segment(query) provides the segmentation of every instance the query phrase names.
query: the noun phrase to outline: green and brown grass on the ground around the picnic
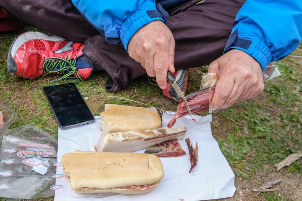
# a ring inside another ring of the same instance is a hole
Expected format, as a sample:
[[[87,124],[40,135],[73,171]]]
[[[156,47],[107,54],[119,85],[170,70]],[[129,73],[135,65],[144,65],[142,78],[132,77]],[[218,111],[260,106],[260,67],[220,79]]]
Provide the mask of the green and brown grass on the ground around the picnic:
[[[20,33],[28,30],[36,29],[26,26],[18,32],[0,35],[0,102],[17,112],[18,118],[10,128],[32,124],[57,137],[56,121],[42,93],[43,86],[54,84],[50,81],[56,75],[28,80],[11,76],[6,69],[11,42]],[[302,56],[302,44],[292,55]],[[235,104],[213,114],[213,136],[238,177],[249,180],[259,171],[275,171],[273,165],[291,153],[302,151],[301,64],[302,59],[299,57],[286,57],[278,61],[276,65],[282,76],[266,82],[265,90],[256,99]],[[204,72],[207,72],[207,66],[190,71],[187,94],[199,89]],[[100,72],[94,73],[85,82],[75,81],[82,95],[88,97],[86,102],[94,115],[103,111],[105,103],[133,106],[144,106],[140,104],[144,103],[172,111],[177,107],[175,102],[166,99],[161,90],[149,84],[144,77],[134,80],[127,90],[113,94],[104,90],[106,78],[106,73]],[[207,111],[201,113],[207,114]],[[280,175],[285,173],[302,175],[301,159],[280,171]],[[290,200],[291,195],[286,192],[258,195],[250,193],[249,198]]]

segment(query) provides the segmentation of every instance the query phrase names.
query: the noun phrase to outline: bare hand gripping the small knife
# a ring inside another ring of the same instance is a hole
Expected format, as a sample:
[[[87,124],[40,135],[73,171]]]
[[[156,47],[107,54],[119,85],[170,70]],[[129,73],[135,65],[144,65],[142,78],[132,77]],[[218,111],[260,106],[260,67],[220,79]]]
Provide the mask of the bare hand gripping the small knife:
[[[140,28],[128,44],[130,57],[140,62],[150,77],[156,76],[156,82],[162,89],[167,87],[167,71],[175,71],[174,48],[173,35],[160,20]]]

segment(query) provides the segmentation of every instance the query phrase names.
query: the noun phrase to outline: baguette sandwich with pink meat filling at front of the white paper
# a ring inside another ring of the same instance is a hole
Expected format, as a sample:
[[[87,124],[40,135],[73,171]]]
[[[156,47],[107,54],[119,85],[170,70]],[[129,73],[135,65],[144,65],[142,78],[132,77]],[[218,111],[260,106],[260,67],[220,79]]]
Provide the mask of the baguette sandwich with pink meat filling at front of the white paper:
[[[75,151],[62,156],[62,165],[77,193],[147,193],[164,176],[152,154]]]

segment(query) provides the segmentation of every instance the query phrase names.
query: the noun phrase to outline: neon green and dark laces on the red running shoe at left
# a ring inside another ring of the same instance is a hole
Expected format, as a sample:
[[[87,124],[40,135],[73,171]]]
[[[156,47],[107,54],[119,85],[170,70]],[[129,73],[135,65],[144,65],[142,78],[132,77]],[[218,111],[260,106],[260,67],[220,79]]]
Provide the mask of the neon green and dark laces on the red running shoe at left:
[[[42,74],[47,71],[46,74],[43,75],[46,76],[50,73],[62,73],[63,76],[59,77],[55,80],[52,80],[50,82],[58,81],[58,80],[67,80],[67,79],[78,79],[81,81],[84,81],[82,77],[79,76],[77,72],[76,67],[76,56],[74,59],[68,60],[68,56],[66,56],[65,59],[59,58],[59,57],[50,57],[47,59],[44,59]],[[73,74],[76,75],[76,77],[73,76]]]

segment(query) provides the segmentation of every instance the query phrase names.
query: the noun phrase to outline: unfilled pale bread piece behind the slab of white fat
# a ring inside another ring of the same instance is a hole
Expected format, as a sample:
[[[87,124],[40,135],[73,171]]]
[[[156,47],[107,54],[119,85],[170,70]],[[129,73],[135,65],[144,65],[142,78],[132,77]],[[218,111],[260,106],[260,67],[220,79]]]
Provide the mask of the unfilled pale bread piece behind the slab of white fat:
[[[150,109],[127,105],[105,104],[105,111],[100,113],[100,128],[103,133],[115,133],[130,130],[160,128],[159,114]]]

